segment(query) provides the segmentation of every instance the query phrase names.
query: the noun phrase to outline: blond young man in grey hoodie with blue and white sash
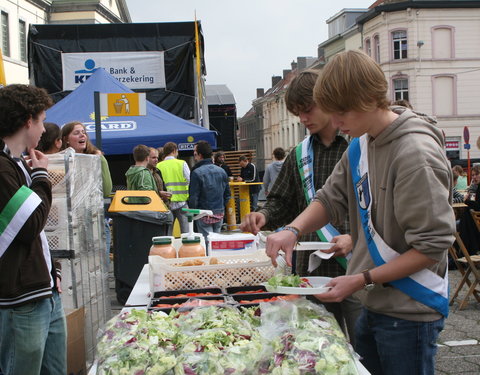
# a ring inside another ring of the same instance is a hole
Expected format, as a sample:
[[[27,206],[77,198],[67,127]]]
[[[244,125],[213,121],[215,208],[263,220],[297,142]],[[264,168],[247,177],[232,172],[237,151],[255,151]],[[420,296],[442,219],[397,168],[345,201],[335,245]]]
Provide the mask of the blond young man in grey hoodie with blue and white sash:
[[[452,172],[441,130],[407,108],[392,111],[387,89],[381,68],[359,51],[325,66],[315,101],[354,139],[290,225],[307,233],[350,214],[347,275],[317,298],[360,299],[356,350],[372,374],[434,374],[436,340],[448,315]],[[296,241],[288,230],[269,236],[272,262],[283,249],[289,263]]]

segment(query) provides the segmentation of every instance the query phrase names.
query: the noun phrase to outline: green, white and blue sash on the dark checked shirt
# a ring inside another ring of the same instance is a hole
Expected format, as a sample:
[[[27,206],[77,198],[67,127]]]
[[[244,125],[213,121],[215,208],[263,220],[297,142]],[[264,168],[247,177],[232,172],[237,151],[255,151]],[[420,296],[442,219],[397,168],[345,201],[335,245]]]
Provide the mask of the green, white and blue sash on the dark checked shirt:
[[[311,136],[306,137],[295,149],[298,172],[302,180],[307,206],[315,197],[312,139]],[[340,235],[340,232],[330,223],[317,230],[316,233],[322,242],[331,242],[333,237]],[[336,257],[335,259],[344,269],[347,269],[347,260],[344,257]]]

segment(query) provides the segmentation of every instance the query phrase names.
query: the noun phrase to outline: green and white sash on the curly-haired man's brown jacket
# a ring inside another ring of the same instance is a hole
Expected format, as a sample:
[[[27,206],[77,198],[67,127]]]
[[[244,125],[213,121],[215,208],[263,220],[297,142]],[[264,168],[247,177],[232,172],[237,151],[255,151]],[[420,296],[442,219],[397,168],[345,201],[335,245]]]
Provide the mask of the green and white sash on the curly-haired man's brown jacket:
[[[40,197],[24,185],[10,198],[0,213],[0,258],[40,203]]]

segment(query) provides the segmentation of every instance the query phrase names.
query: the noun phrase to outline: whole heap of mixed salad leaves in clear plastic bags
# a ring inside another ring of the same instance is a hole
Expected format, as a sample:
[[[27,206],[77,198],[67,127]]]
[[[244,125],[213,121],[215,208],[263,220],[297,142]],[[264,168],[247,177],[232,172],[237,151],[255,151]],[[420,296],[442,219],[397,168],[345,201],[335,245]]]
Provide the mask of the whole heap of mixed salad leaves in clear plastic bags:
[[[110,320],[98,375],[357,375],[333,316],[306,299],[260,307],[132,310]]]

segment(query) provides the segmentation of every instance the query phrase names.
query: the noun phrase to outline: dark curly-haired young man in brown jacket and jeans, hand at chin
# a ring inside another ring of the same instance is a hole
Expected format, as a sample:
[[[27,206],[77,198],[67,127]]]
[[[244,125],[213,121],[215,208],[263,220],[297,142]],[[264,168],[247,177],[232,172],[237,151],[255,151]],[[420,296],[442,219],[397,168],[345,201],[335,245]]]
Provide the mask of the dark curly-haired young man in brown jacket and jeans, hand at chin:
[[[65,314],[43,232],[52,203],[48,159],[35,150],[51,105],[43,89],[0,88],[0,368],[5,375],[67,371]]]

